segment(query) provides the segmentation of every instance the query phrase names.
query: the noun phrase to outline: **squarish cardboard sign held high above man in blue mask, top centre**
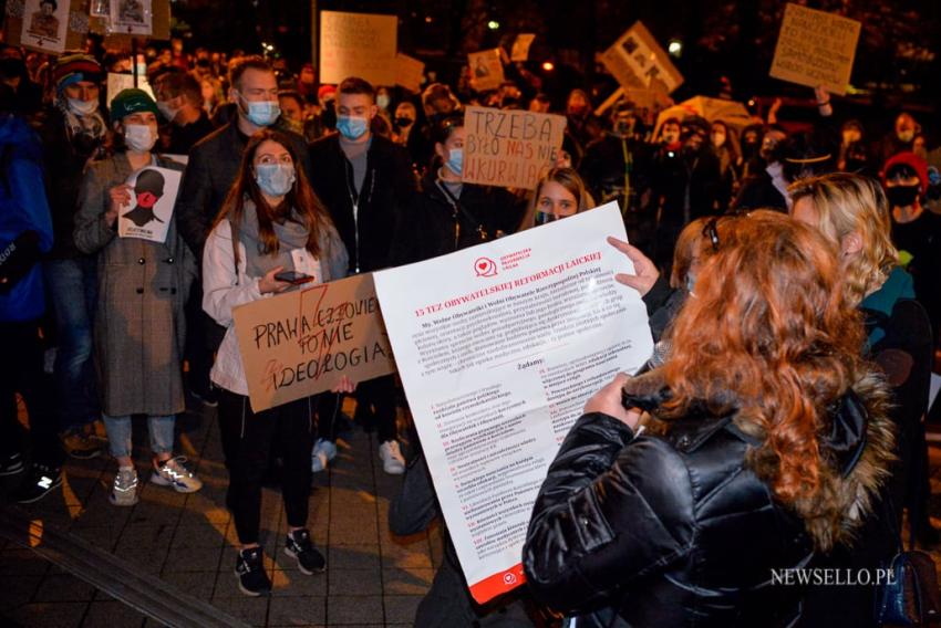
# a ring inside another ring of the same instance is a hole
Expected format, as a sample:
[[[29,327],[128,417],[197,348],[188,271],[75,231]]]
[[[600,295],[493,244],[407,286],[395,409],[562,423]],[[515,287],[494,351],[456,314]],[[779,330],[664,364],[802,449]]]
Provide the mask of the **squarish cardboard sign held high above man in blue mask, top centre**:
[[[394,85],[399,18],[371,13],[320,12],[320,82],[348,76]]]

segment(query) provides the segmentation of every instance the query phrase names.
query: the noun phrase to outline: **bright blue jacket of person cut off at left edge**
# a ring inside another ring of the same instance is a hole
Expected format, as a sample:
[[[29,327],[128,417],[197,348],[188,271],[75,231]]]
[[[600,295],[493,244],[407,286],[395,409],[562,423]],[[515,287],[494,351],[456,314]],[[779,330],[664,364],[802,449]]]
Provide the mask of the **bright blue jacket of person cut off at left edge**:
[[[0,255],[3,255],[0,264],[12,260],[15,245],[11,244],[25,231],[39,237],[38,252],[49,252],[52,219],[42,180],[41,146],[27,124],[13,115],[0,116]],[[13,285],[0,289],[2,323],[31,321],[44,310],[39,264],[32,264]]]

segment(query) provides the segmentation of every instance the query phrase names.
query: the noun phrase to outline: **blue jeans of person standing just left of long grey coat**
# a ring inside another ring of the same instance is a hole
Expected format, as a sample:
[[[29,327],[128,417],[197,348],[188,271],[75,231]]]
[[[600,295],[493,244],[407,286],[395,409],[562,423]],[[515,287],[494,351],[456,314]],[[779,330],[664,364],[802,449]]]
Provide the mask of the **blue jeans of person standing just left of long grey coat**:
[[[92,360],[97,271],[94,258],[48,260],[43,270],[59,343],[54,366],[59,429],[66,431],[101,415]]]

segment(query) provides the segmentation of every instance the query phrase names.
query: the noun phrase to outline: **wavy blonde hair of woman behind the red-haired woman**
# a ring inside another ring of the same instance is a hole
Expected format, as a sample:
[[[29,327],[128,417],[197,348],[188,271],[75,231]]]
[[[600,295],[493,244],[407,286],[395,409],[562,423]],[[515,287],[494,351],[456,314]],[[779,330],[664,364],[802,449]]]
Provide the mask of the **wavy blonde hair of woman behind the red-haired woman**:
[[[838,248],[847,236],[859,236],[859,257],[846,266],[844,276],[846,297],[858,305],[885,283],[899,260],[881,186],[869,177],[833,172],[800,179],[788,191],[795,206],[803,198],[814,202],[818,221],[815,227]]]

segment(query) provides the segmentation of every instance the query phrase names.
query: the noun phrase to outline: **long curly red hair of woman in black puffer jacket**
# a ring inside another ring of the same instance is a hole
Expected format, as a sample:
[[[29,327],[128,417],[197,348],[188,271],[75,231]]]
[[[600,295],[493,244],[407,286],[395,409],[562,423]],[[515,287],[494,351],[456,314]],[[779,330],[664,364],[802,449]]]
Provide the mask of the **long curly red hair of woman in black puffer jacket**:
[[[665,418],[705,407],[764,437],[766,481],[785,504],[821,488],[827,408],[862,371],[862,323],[840,285],[836,250],[778,212],[736,221],[703,265],[670,332]]]

